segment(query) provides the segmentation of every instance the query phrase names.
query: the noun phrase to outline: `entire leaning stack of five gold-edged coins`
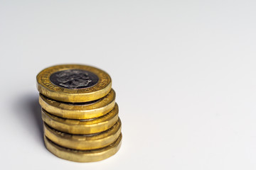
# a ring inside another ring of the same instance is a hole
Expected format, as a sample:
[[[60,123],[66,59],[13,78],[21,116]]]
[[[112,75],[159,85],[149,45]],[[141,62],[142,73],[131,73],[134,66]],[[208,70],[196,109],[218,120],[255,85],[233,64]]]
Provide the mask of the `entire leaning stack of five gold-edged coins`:
[[[96,162],[119,150],[121,121],[109,74],[65,64],[43,69],[36,79],[50,152],[74,162]]]

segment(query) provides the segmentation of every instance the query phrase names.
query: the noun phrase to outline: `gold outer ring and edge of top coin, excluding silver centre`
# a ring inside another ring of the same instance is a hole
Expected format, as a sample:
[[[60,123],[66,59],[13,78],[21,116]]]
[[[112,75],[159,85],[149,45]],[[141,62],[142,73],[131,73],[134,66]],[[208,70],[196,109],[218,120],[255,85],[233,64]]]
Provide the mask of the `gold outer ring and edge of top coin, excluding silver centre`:
[[[63,86],[53,84],[53,82],[50,81],[50,76],[52,74],[65,70],[83,70],[91,72],[97,76],[98,81],[95,85],[82,89],[68,89]],[[106,96],[110,92],[112,86],[109,74],[101,69],[81,64],[63,64],[48,67],[43,69],[43,71],[37,75],[36,80],[37,89],[44,96],[48,96],[48,98],[53,98],[57,101],[71,103],[95,101]]]

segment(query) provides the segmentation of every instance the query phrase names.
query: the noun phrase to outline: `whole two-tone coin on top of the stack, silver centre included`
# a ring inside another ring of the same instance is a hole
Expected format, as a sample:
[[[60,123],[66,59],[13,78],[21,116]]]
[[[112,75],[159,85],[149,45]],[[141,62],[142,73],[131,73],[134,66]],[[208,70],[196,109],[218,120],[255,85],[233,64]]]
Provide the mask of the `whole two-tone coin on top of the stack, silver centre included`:
[[[37,89],[56,101],[80,103],[106,96],[112,86],[110,75],[101,69],[80,64],[63,64],[43,69]]]

